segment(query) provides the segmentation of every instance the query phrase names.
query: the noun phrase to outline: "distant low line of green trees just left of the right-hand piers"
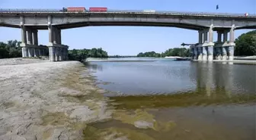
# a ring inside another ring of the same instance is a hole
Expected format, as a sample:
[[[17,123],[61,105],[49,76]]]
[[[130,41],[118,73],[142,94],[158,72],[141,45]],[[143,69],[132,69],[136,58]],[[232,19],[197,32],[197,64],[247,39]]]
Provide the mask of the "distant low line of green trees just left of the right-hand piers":
[[[137,57],[152,57],[152,58],[162,58],[167,56],[178,56],[178,57],[189,57],[189,48],[169,48],[165,52],[156,53],[155,51],[148,51],[145,53],[140,52]]]

